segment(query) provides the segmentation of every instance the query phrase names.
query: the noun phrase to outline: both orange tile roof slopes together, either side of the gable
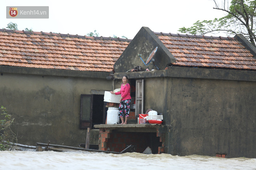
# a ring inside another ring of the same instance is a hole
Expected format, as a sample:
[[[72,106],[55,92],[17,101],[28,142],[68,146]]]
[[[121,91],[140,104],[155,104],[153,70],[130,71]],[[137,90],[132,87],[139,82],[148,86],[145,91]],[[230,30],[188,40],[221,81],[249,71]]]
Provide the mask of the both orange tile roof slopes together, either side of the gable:
[[[235,37],[154,32],[174,66],[256,70],[256,58]],[[0,29],[0,65],[109,72],[130,39]]]

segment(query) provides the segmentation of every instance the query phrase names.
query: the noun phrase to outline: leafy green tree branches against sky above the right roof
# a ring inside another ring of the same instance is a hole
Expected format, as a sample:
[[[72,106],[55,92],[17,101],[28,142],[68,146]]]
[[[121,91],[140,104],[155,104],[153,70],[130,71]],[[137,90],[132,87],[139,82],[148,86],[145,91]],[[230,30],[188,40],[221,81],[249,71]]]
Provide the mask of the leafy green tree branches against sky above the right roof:
[[[255,45],[256,39],[256,0],[222,0],[219,5],[216,0],[215,8],[226,12],[220,19],[197,21],[192,27],[182,27],[182,33],[203,35],[208,33],[218,34],[224,32],[227,36],[242,34]]]

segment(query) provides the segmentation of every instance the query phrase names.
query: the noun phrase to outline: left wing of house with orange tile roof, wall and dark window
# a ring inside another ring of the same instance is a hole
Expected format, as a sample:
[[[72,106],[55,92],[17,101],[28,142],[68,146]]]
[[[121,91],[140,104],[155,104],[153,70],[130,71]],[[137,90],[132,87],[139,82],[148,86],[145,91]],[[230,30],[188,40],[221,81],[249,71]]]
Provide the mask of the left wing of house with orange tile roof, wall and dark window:
[[[0,29],[0,104],[18,142],[84,143],[86,129],[105,122],[106,77],[130,41]]]

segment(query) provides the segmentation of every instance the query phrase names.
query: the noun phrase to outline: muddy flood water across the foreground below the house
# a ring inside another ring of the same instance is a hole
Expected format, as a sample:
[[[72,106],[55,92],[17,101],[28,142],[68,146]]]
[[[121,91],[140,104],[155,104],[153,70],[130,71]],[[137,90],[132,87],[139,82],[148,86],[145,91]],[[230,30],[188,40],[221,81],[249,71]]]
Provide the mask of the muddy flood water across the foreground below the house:
[[[255,158],[199,155],[0,151],[0,160],[0,170],[256,170]]]

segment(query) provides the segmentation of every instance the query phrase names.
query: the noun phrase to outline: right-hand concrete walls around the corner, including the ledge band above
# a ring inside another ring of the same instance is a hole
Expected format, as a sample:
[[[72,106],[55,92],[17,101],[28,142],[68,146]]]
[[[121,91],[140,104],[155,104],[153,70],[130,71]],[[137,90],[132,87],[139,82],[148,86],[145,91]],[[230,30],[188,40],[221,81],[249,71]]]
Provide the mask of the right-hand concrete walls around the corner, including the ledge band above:
[[[166,153],[256,158],[255,71],[170,67],[127,75],[144,79],[144,110],[164,113]]]

